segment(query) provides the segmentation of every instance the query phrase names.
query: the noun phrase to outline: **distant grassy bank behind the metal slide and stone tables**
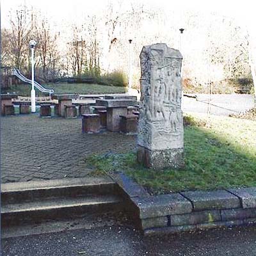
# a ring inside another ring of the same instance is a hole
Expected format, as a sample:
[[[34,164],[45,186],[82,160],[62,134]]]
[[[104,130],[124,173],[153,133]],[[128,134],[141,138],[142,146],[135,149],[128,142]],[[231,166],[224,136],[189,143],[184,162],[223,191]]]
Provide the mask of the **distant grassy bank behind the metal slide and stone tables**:
[[[79,93],[79,94],[97,94],[97,93],[125,93],[125,87],[120,86],[106,86],[101,84],[68,84],[68,83],[55,83],[55,84],[44,84],[44,87],[51,88],[54,93]],[[36,95],[44,95],[37,89]],[[30,84],[19,84],[13,85],[12,88],[6,90],[6,92],[16,92],[20,96],[30,95],[31,85]]]

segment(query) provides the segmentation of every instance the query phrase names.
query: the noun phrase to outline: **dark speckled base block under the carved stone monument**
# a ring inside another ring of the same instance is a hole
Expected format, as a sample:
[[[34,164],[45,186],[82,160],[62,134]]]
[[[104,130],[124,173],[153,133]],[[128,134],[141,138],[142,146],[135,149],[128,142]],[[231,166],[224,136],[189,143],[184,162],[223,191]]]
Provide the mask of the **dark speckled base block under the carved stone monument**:
[[[137,159],[152,169],[184,168],[184,148],[149,150],[138,146]]]

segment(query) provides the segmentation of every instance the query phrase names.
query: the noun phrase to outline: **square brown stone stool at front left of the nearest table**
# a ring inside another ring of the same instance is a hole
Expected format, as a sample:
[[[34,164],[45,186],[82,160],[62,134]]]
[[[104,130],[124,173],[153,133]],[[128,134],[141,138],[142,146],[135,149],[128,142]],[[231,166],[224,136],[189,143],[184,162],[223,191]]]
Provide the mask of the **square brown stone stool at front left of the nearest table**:
[[[97,114],[82,115],[82,132],[85,132],[85,133],[100,132],[100,115],[97,115]]]

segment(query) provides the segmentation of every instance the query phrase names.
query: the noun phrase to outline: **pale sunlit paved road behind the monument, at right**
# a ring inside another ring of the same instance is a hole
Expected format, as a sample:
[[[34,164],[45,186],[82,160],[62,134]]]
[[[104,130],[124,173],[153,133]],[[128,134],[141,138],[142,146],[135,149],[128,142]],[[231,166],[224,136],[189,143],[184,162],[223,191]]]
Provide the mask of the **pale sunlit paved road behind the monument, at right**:
[[[197,99],[182,97],[184,112],[207,113],[208,95],[198,94]],[[248,94],[213,94],[211,95],[211,114],[225,115],[239,113],[253,108],[253,95]]]

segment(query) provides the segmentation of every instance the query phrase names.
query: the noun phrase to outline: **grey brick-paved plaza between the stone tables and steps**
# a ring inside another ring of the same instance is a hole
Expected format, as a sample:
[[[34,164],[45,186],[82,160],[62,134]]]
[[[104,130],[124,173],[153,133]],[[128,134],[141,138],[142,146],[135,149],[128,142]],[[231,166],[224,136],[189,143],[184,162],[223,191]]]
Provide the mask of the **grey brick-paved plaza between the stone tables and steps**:
[[[82,134],[81,119],[1,117],[1,182],[84,177],[84,157],[127,152],[135,136],[117,132]]]

